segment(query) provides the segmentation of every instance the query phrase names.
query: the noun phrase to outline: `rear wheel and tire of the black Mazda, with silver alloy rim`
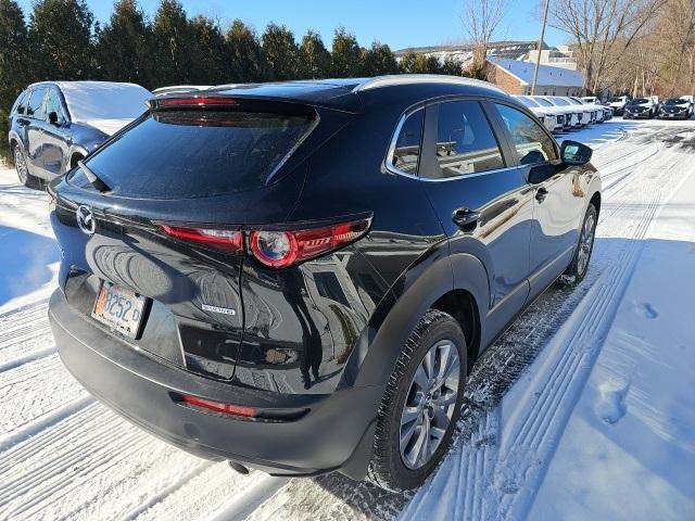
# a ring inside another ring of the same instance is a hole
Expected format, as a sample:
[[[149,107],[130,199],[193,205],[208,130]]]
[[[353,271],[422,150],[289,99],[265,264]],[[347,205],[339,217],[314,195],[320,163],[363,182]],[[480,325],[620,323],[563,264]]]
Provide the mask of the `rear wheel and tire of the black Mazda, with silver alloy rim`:
[[[460,416],[467,367],[460,326],[451,315],[429,309],[413,329],[389,378],[377,414],[368,481],[391,492],[425,482],[450,447]],[[447,378],[438,378],[447,370]]]

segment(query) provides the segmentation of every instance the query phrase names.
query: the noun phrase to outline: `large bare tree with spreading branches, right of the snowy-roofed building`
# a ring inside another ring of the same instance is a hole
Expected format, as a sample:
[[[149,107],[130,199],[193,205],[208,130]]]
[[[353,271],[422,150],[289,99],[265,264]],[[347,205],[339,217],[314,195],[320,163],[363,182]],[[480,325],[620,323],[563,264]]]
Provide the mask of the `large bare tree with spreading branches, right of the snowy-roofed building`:
[[[668,0],[553,0],[548,24],[573,40],[584,88],[605,88],[605,73]]]

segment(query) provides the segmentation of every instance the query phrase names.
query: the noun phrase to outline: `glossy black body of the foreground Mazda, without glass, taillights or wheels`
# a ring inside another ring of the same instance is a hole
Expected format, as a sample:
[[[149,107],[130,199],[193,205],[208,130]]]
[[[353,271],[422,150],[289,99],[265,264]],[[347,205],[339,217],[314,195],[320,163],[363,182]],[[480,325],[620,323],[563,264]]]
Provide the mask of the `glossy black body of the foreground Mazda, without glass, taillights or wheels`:
[[[352,91],[359,82],[219,89],[239,99],[308,104],[320,116],[321,126],[262,190],[150,201],[99,193],[65,179],[51,183],[51,221],[63,252],[62,291],[51,300],[51,322],[63,360],[92,393],[204,457],[276,474],[338,469],[361,479],[386,382],[425,312],[443,307],[456,316],[465,309],[475,358],[563,272],[590,200],[599,205],[601,181],[590,164],[520,165],[491,102],[535,118],[482,84]],[[506,167],[438,181],[390,171],[386,155],[400,119],[426,107],[427,142],[437,104],[458,99],[483,104]],[[94,236],[75,226],[78,204],[92,208]],[[476,226],[455,226],[452,214],[458,208],[479,212]],[[372,215],[365,238],[282,270],[164,238],[157,227],[162,221],[287,225],[364,214]],[[321,295],[320,274],[334,276],[332,287],[342,296]],[[89,318],[99,279],[153,300],[140,339],[126,341]],[[203,312],[205,301],[237,314]],[[192,330],[185,334],[199,335],[192,343],[211,342],[207,367],[194,366],[191,353],[182,352],[181,327]],[[173,399],[176,393],[298,417],[223,418],[181,406]]]

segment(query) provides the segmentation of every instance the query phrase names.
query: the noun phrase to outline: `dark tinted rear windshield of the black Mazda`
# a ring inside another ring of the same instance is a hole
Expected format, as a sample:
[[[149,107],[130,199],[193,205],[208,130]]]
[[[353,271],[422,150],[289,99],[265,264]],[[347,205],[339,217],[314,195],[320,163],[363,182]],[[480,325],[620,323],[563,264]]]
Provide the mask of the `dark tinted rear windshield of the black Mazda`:
[[[312,123],[307,115],[153,112],[87,165],[124,196],[186,199],[252,190],[266,185]],[[77,171],[71,182],[81,186]]]

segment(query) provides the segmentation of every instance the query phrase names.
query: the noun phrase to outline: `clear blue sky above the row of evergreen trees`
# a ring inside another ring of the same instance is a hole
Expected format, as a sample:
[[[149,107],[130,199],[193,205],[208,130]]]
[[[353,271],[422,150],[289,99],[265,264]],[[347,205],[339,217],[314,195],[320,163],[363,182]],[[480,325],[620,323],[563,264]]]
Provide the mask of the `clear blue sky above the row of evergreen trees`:
[[[33,0],[21,0],[20,3],[27,12]],[[152,17],[159,0],[139,0],[139,3]],[[87,0],[87,4],[97,20],[109,20],[113,1]],[[312,28],[327,45],[330,45],[333,29],[340,25],[354,33],[362,46],[378,39],[392,50],[465,39],[460,23],[462,0],[184,0],[182,4],[189,15],[213,16],[220,20],[223,26],[237,17],[253,25],[258,33],[269,22],[285,24],[298,40]],[[538,39],[540,21],[535,20],[534,13],[535,0],[510,0],[496,39]],[[548,28],[545,41],[556,46],[566,42],[566,36]]]

